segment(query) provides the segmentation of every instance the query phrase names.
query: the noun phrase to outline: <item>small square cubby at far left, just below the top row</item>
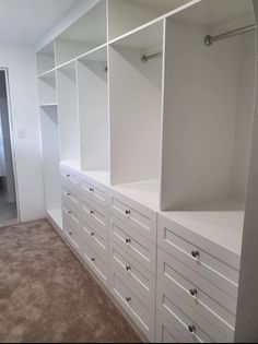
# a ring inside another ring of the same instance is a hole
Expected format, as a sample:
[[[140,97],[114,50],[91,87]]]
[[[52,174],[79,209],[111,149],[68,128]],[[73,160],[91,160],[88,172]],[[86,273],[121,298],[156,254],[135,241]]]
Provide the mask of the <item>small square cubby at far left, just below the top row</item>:
[[[56,71],[38,78],[39,104],[57,104]]]

